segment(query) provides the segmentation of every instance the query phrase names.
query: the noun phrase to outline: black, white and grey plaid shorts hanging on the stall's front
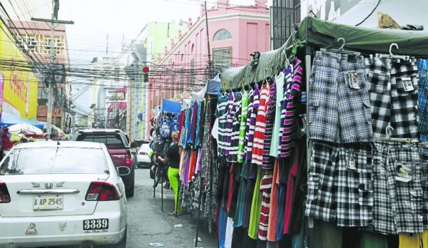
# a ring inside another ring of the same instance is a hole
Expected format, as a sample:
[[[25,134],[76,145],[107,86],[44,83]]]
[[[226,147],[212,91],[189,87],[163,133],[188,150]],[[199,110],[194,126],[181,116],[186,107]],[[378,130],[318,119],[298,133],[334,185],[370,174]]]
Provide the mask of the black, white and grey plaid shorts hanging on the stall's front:
[[[427,108],[425,63],[315,54],[305,209],[315,219],[311,247],[427,245],[428,153],[419,144],[426,141],[424,121],[418,130]]]

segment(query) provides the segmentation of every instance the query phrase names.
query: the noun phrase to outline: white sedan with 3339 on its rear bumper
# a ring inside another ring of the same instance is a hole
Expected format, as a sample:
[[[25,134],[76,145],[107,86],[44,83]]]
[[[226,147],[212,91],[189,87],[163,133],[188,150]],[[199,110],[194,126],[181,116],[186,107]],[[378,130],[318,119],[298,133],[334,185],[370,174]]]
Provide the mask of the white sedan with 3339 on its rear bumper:
[[[0,162],[0,247],[126,247],[125,187],[106,145],[34,142]]]

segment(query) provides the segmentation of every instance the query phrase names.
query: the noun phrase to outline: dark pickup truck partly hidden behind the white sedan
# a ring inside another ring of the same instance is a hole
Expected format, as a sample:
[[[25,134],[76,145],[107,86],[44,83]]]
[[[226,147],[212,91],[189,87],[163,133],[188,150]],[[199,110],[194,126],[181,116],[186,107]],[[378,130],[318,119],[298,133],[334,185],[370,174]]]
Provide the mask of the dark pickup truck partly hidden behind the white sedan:
[[[105,144],[116,167],[129,167],[131,172],[128,175],[122,175],[121,177],[125,184],[126,196],[133,197],[136,180],[136,173],[133,165],[136,161],[131,153],[128,135],[126,135],[125,132],[118,129],[78,130],[74,133],[72,140],[91,141]]]

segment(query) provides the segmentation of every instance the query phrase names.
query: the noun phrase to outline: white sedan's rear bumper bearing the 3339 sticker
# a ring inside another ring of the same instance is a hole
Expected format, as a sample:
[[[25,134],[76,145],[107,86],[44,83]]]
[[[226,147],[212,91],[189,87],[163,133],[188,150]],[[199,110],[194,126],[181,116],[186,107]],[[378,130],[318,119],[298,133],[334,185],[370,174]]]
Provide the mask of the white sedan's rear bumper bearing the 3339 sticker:
[[[84,219],[108,219],[108,229],[83,230]],[[126,232],[126,215],[0,217],[0,247],[44,247],[76,244],[116,244]]]

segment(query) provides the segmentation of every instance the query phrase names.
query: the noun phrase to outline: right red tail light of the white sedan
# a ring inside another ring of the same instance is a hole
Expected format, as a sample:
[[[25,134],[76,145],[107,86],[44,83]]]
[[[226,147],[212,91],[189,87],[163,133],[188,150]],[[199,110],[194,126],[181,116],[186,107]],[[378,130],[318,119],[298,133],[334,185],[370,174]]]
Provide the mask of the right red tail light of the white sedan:
[[[116,187],[108,182],[91,182],[85,200],[87,201],[114,201],[121,199]]]

